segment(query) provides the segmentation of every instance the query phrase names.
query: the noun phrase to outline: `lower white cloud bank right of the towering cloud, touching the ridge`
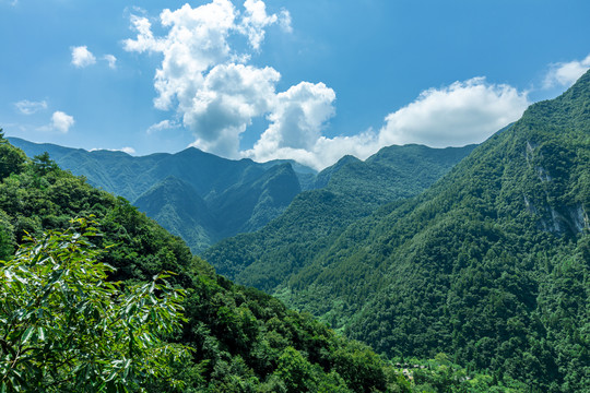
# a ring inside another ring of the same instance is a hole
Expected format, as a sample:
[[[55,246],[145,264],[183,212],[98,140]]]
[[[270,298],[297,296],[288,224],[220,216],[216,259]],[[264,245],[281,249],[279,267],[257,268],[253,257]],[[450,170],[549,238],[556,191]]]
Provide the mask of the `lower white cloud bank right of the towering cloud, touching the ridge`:
[[[296,91],[298,94],[294,94]],[[315,97],[303,99],[307,111],[298,107],[295,98],[303,97],[303,91]],[[333,115],[330,107],[334,98],[326,86],[310,88],[300,84],[283,95],[290,99],[269,116],[272,123],[244,155],[256,160],[292,158],[318,170],[345,154],[365,159],[392,144],[446,147],[480,143],[517,120],[530,104],[526,92],[475,78],[423,92],[410,105],[388,115],[378,131],[326,138],[320,131]]]

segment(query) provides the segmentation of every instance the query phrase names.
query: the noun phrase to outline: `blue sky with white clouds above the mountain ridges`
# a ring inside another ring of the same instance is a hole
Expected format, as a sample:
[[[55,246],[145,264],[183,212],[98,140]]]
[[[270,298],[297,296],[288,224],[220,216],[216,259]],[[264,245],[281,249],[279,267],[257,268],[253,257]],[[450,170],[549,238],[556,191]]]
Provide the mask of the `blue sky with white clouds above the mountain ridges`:
[[[588,0],[0,0],[0,128],[316,169],[481,143],[590,68]]]

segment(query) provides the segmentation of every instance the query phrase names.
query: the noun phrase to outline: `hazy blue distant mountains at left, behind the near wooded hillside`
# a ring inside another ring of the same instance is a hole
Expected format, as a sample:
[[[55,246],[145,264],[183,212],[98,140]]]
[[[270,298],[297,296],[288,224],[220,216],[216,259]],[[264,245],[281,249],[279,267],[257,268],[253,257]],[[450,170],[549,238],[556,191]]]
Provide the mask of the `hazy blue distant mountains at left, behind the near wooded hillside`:
[[[312,169],[288,160],[231,160],[197,148],[132,157],[9,140],[30,157],[47,152],[60,167],[126,198],[182,237],[193,252],[261,228],[286,209],[302,183],[308,187],[315,177]]]

